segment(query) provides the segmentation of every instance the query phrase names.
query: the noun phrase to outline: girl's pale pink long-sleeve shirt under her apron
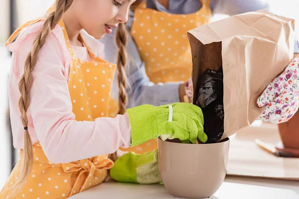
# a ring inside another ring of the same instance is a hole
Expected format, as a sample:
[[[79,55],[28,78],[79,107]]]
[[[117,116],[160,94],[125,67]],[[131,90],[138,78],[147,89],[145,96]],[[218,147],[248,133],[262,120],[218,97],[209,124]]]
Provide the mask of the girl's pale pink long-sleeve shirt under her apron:
[[[25,59],[42,24],[40,21],[27,27],[7,47],[13,53],[9,76],[9,107],[13,145],[18,149],[23,148],[24,141],[24,128],[18,109],[18,82],[24,71]],[[97,54],[100,46],[97,46],[97,41],[90,39],[87,42],[93,41],[89,45]],[[76,56],[89,60],[86,48],[74,49]],[[62,29],[56,25],[41,48],[32,72],[33,84],[27,110],[32,143],[40,142],[49,161],[55,164],[110,154],[119,147],[129,147],[131,126],[128,115],[76,121],[67,83],[70,61]]]

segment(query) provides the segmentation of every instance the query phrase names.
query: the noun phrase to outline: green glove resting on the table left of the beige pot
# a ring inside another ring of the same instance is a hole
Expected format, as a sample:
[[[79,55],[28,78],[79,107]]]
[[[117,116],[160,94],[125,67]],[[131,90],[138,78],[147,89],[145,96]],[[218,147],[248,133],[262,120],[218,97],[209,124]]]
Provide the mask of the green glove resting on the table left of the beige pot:
[[[122,155],[110,170],[113,180],[125,183],[154,184],[162,182],[157,150],[142,155],[133,152]]]

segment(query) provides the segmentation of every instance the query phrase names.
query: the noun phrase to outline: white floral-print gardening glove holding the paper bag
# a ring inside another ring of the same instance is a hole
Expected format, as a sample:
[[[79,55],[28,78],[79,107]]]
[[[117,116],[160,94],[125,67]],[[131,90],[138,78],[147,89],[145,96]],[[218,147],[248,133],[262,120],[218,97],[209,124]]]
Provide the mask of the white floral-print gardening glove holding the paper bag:
[[[267,105],[261,120],[277,124],[292,118],[299,107],[299,57],[268,85],[257,104],[259,107]]]

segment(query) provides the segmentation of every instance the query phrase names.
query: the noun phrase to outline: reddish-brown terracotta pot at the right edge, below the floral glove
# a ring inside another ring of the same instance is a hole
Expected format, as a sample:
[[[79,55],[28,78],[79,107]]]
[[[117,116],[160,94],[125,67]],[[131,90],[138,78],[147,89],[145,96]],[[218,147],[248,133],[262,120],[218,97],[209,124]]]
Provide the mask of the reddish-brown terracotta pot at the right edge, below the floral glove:
[[[278,124],[284,148],[299,150],[299,111],[285,123]]]

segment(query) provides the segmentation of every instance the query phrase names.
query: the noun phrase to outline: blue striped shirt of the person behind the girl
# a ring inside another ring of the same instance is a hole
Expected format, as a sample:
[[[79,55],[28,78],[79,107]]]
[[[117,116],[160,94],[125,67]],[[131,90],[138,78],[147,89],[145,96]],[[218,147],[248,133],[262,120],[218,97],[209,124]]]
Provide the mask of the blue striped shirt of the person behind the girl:
[[[161,5],[158,0],[147,0],[147,6],[163,12],[173,14],[190,14],[202,6],[200,0],[169,0],[168,8]],[[269,3],[265,0],[211,0],[213,14],[235,15],[260,9],[269,10]],[[130,32],[133,24],[134,12],[131,11],[127,29]],[[115,44],[115,30],[99,40],[105,45],[105,60],[116,63],[118,48]],[[142,62],[137,46],[129,36],[127,52],[129,56],[126,74],[128,77],[128,108],[141,104],[162,105],[179,101],[178,83],[153,84],[146,74],[145,63]],[[296,41],[295,51],[299,53],[299,42]],[[117,74],[116,74],[117,75]],[[116,76],[115,76],[116,77]],[[117,78],[114,78],[112,96],[118,99]]]

